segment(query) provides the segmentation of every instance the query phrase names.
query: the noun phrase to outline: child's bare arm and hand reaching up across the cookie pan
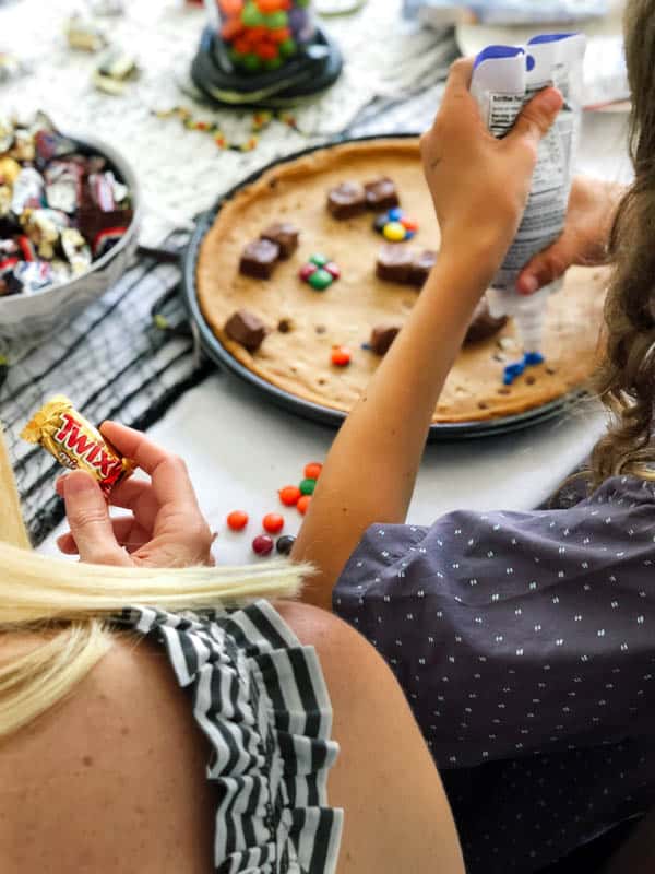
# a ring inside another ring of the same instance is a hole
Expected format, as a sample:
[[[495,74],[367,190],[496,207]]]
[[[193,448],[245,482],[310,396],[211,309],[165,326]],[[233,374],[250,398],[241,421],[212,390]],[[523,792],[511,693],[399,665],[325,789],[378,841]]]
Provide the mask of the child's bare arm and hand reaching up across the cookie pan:
[[[543,92],[498,141],[468,93],[471,72],[471,61],[454,64],[437,121],[421,142],[442,235],[439,261],[337,435],[294,547],[294,559],[318,568],[303,600],[326,610],[366,529],[405,519],[437,400],[519,227],[538,142],[561,107],[558,92]]]

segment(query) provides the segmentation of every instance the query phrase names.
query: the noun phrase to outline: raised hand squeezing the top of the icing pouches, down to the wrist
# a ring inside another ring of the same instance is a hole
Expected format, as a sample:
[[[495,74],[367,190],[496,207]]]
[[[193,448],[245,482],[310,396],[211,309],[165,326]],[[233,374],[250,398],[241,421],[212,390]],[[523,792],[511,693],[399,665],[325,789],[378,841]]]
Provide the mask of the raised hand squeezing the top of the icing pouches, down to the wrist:
[[[441,228],[441,255],[488,282],[516,234],[529,196],[540,139],[562,107],[556,88],[537,94],[512,131],[486,129],[468,87],[473,60],[451,68],[432,128],[421,138],[424,167]]]

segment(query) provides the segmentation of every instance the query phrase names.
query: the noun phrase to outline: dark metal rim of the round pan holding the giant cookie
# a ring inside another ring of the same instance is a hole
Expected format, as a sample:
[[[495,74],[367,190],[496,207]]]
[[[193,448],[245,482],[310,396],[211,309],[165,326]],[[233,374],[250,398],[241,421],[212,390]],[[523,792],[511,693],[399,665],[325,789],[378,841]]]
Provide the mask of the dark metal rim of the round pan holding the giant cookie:
[[[189,312],[189,318],[194,327],[195,333],[200,340],[205,354],[219,367],[225,368],[231,374],[235,374],[240,379],[254,386],[255,389],[262,392],[265,398],[277,406],[286,410],[287,412],[295,413],[296,415],[309,418],[313,422],[319,422],[323,425],[331,425],[338,428],[346,414],[340,410],[333,410],[322,404],[306,401],[298,398],[288,391],[277,388],[272,382],[267,382],[257,374],[252,373],[238,362],[215,336],[211,327],[204,319],[200,304],[198,302],[198,291],[195,284],[195,270],[200,247],[205,234],[210,231],[214,220],[224,204],[230,200],[242,188],[246,188],[252,182],[257,181],[260,176],[281,164],[286,164],[290,161],[296,161],[299,157],[318,152],[322,149],[329,149],[331,145],[342,145],[347,142],[370,142],[374,140],[388,139],[409,139],[415,138],[416,133],[393,133],[381,137],[362,137],[358,139],[341,139],[333,141],[329,144],[312,146],[303,149],[294,154],[287,155],[284,158],[278,158],[271,164],[262,167],[255,173],[251,174],[248,178],[240,181],[223,197],[221,197],[213,209],[204,213],[196,222],[191,239],[182,255],[182,294],[184,304]],[[537,406],[534,410],[528,410],[524,413],[517,413],[511,416],[503,416],[501,418],[491,418],[480,422],[457,422],[457,423],[436,423],[430,426],[428,439],[430,441],[437,440],[456,440],[462,438],[479,438],[479,437],[496,437],[501,434],[521,430],[534,425],[540,425],[558,415],[561,415],[567,409],[570,409],[573,400],[579,398],[582,392],[573,392],[572,394],[562,395],[555,401]]]

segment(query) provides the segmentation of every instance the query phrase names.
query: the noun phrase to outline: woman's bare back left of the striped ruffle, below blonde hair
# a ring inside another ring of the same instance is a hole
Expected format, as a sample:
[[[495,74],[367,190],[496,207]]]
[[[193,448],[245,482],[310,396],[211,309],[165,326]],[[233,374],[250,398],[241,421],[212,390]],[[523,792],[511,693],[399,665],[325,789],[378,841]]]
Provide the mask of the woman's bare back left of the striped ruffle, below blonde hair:
[[[0,637],[0,666],[41,640]],[[0,741],[0,870],[206,874],[207,759],[165,653],[116,637],[64,700]]]

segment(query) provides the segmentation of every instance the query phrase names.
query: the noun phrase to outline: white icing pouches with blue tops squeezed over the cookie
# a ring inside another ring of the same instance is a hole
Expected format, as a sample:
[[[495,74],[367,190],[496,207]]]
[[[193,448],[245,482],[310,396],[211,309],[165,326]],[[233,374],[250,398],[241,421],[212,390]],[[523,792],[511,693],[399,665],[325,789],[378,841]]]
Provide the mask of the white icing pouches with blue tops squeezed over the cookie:
[[[488,292],[491,315],[514,318],[526,353],[539,352],[548,297],[561,280],[531,297],[516,292],[516,280],[564,226],[582,118],[585,47],[582,34],[536,36],[524,48],[490,46],[477,56],[471,83],[485,123],[499,138],[509,133],[523,106],[541,88],[555,85],[564,97],[562,110],[539,144],[521,226]]]

